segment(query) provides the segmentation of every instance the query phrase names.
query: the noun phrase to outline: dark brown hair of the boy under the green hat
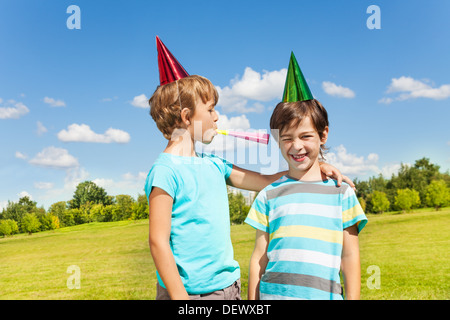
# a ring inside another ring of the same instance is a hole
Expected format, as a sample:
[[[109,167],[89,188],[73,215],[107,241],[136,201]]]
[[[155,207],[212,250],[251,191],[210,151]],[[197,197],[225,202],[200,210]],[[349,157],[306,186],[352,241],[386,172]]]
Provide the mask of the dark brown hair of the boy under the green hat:
[[[316,99],[297,102],[280,102],[277,104],[270,118],[272,135],[278,141],[283,130],[298,126],[306,117],[310,117],[320,139],[322,139],[325,127],[329,126],[328,113],[323,105]],[[275,132],[274,130],[278,130],[278,132]],[[323,153],[325,151],[325,145],[321,145],[321,158],[323,158]]]

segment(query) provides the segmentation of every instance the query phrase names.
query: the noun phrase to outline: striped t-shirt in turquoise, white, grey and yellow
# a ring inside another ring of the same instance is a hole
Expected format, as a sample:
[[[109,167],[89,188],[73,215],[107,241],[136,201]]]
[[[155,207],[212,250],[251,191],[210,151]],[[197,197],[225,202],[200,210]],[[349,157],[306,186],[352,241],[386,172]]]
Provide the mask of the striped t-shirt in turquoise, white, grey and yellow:
[[[343,230],[367,223],[348,184],[284,176],[258,194],[245,222],[269,233],[261,299],[343,299]]]

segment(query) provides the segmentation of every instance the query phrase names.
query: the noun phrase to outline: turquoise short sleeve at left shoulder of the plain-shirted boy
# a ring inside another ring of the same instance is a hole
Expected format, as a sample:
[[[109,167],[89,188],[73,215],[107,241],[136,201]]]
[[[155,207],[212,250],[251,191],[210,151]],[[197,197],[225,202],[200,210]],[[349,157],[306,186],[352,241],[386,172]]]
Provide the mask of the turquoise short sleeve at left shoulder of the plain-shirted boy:
[[[176,176],[170,167],[164,165],[154,165],[148,173],[145,181],[145,194],[147,199],[153,187],[158,187],[167,192],[173,199],[177,191]]]

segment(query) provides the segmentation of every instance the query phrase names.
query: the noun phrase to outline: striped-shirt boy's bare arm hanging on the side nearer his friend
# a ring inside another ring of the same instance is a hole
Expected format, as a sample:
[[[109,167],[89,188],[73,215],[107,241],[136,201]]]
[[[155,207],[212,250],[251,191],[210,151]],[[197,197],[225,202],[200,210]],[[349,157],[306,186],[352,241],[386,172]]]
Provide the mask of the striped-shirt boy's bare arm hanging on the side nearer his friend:
[[[248,300],[259,300],[259,283],[266,270],[267,246],[269,244],[269,234],[256,230],[255,248],[250,258],[250,271],[248,276]]]

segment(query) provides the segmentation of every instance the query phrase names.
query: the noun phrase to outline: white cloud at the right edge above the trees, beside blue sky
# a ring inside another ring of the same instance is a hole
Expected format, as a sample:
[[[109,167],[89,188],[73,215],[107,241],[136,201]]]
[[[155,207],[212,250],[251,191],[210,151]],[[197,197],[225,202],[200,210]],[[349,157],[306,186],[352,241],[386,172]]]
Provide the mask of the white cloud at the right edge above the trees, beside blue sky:
[[[433,88],[426,82],[429,81],[420,81],[405,76],[392,78],[387,93],[399,93],[399,95],[395,98],[382,98],[378,102],[389,104],[394,100],[402,101],[416,98],[443,100],[450,97],[450,84],[443,84],[438,88]]]

